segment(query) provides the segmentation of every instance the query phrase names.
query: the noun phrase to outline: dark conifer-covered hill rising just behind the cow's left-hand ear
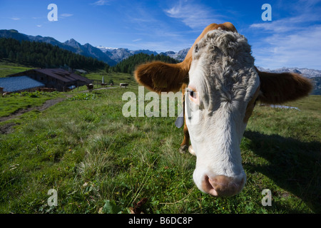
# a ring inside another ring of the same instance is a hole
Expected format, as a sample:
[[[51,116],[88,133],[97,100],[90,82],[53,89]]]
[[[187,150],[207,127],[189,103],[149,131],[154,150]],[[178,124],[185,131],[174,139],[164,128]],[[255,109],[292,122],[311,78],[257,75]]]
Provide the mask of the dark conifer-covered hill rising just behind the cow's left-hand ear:
[[[116,66],[113,66],[111,68],[112,71],[115,72],[121,72],[121,73],[133,73],[136,66],[141,63],[146,63],[148,61],[162,61],[165,63],[178,63],[177,60],[174,58],[170,58],[169,56],[163,56],[163,55],[153,55],[151,54],[144,54],[144,53],[138,53],[136,55],[133,55],[131,57],[128,57],[118,63]]]

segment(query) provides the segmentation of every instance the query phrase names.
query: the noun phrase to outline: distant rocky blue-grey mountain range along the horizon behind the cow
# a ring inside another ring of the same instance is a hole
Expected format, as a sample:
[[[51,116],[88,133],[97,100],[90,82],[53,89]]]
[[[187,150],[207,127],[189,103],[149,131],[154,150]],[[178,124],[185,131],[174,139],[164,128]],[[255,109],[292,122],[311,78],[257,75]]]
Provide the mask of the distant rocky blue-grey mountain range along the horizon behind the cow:
[[[83,56],[97,58],[100,61],[104,61],[108,63],[110,66],[115,66],[117,63],[123,61],[123,59],[128,58],[129,56],[133,56],[137,53],[147,53],[148,55],[157,55],[156,51],[150,50],[136,50],[131,51],[127,48],[107,48],[104,46],[91,46],[90,43],[81,44],[71,38],[68,41],[61,43],[57,41],[55,38],[48,36],[29,36],[24,33],[19,33],[15,29],[10,30],[0,30],[0,38],[14,38],[19,41],[36,41],[36,42],[45,42],[50,43],[54,46],[58,46],[60,48],[66,49],[68,51],[72,51],[73,53],[78,53]],[[171,58],[175,58],[178,61],[183,61],[186,54],[188,53],[189,48],[185,48],[177,53],[174,51],[166,51],[161,52],[159,54],[170,56]],[[307,68],[279,68],[275,70],[270,70],[266,68],[262,68],[258,66],[260,71],[266,72],[274,72],[274,73],[282,73],[282,72],[294,72],[294,73],[302,73],[303,76],[307,78],[316,78],[321,77],[321,71]]]

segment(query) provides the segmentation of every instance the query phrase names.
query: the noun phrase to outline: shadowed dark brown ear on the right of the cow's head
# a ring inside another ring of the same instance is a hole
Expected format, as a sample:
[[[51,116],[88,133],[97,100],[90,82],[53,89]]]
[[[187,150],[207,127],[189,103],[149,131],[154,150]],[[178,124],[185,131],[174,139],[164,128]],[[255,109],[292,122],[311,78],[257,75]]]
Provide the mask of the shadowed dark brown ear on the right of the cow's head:
[[[258,69],[256,69],[258,71]],[[303,98],[313,86],[309,79],[297,73],[267,73],[258,71],[262,103],[277,104]]]

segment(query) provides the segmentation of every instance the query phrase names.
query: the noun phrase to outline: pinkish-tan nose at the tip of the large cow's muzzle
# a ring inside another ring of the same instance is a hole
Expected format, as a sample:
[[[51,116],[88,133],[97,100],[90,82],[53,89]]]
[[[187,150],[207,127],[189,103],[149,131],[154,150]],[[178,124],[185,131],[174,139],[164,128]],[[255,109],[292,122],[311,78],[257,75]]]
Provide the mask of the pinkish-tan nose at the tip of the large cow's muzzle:
[[[238,194],[244,186],[245,178],[235,180],[233,177],[217,175],[213,178],[205,175],[202,187],[205,192],[215,197],[230,197]]]

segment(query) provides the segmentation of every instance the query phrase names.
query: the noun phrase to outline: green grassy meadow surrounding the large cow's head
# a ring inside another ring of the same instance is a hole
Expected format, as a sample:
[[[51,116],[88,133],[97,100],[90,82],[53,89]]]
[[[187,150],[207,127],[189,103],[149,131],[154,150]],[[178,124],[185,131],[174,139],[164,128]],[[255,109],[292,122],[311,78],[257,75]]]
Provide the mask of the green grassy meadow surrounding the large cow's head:
[[[129,74],[105,77],[130,86],[58,93],[66,99],[0,122],[11,125],[0,135],[0,213],[131,213],[138,202],[147,214],[321,212],[320,95],[285,104],[300,111],[257,105],[240,145],[245,188],[215,198],[195,187],[195,157],[178,152],[175,118],[125,118],[122,95],[138,95],[138,85]],[[6,106],[16,98],[0,98],[1,116],[14,112]],[[50,98],[39,94],[21,108]],[[48,204],[51,189],[57,206]],[[264,189],[271,206],[262,204]]]

